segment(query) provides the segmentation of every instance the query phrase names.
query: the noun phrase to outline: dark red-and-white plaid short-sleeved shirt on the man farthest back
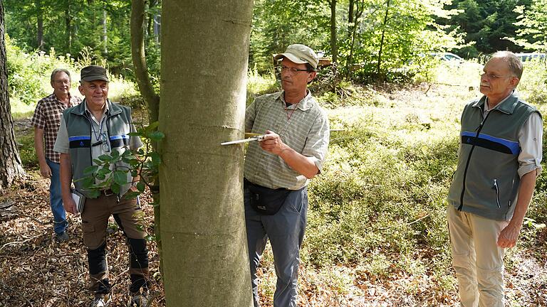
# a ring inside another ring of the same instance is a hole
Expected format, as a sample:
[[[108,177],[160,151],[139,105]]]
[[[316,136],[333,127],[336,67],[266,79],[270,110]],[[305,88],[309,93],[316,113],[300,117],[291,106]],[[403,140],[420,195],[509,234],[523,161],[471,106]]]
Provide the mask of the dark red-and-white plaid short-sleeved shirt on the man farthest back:
[[[72,97],[71,105],[66,106],[57,99],[55,94],[51,94],[48,97],[42,98],[36,105],[34,115],[32,117],[32,125],[35,128],[44,130],[44,147],[46,147],[46,158],[53,162],[59,163],[59,153],[53,151],[53,145],[57,139],[57,131],[59,130],[59,124],[61,124],[61,114],[64,109],[73,107],[76,104],[82,102],[79,97]]]

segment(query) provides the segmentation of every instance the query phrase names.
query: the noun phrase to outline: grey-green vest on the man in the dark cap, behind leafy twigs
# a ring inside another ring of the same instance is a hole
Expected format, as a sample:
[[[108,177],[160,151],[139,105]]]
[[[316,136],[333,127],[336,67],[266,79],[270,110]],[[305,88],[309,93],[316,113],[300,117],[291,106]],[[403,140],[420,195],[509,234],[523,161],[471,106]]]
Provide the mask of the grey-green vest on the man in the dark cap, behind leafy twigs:
[[[108,112],[106,114],[106,125],[108,127],[108,142],[112,151],[123,154],[129,146],[131,131],[131,109],[120,104],[113,104],[108,100]],[[72,162],[72,177],[76,190],[79,190],[86,197],[82,182],[78,179],[85,177],[83,171],[91,166],[91,120],[85,114],[85,99],[75,107],[65,109],[63,118],[68,131],[69,149]],[[116,163],[115,169],[127,170],[127,163]],[[120,188],[120,197],[129,190],[132,176],[127,173],[127,184]]]

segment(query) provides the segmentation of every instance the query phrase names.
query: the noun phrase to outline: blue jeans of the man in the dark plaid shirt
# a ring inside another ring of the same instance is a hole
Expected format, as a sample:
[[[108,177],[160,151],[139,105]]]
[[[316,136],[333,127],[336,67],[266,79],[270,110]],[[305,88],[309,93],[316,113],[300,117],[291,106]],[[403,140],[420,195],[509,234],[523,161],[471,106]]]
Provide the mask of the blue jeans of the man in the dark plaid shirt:
[[[49,168],[51,168],[51,183],[49,184],[49,204],[53,212],[53,231],[56,234],[66,230],[68,222],[66,221],[66,212],[63,207],[63,198],[61,198],[61,171],[59,163],[46,159]]]

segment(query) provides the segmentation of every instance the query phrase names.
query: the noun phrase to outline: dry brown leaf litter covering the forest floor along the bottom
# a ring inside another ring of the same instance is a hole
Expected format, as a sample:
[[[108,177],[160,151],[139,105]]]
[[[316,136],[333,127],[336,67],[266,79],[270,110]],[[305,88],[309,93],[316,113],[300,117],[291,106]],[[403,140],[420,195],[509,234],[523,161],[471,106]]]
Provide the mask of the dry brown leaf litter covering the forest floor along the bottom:
[[[18,119],[16,134],[31,133],[30,121]],[[85,291],[88,268],[81,239],[80,218],[69,215],[71,236],[56,242],[53,236],[48,198],[48,179],[36,169],[26,170],[26,181],[0,195],[0,307],[2,306],[88,306],[90,294]],[[153,208],[150,195],[141,198],[147,231],[153,233]],[[108,267],[113,284],[113,304],[127,303],[127,247],[123,233],[111,220],[108,235]],[[545,233],[545,232],[544,232]],[[149,242],[152,303],[165,306],[159,257],[155,242]],[[416,257],[427,258],[427,250],[417,250]],[[547,306],[547,255],[541,250],[523,250],[511,254],[511,267],[506,270],[506,296],[511,306]],[[271,307],[275,271],[271,250],[259,271],[262,306]],[[182,260],[184,261],[184,260]],[[325,273],[326,272],[326,273]],[[360,273],[358,268],[332,266],[316,269],[301,265],[299,307],[304,306],[457,306],[454,287],[439,291],[438,281],[422,274],[413,276],[392,269],[393,274],[375,276]],[[447,275],[454,272],[447,271]],[[343,282],[344,276],[353,276]]]

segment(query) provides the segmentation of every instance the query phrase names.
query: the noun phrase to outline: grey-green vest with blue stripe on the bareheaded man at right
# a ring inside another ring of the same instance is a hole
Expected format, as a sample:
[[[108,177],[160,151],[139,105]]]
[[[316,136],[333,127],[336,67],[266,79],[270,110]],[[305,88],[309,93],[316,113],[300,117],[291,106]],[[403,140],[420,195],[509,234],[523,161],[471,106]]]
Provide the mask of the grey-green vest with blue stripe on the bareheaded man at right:
[[[510,220],[521,181],[519,131],[538,111],[511,95],[483,118],[485,99],[464,108],[458,168],[448,201],[490,220]]]

